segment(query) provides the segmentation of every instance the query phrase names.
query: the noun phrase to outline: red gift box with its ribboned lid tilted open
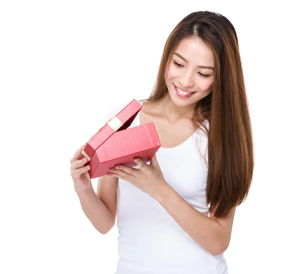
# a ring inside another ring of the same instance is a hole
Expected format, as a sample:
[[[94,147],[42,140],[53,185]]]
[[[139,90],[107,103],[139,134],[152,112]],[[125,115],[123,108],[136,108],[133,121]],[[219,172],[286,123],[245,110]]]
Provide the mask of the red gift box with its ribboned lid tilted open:
[[[90,178],[110,173],[118,164],[136,166],[134,158],[149,162],[161,146],[153,122],[128,129],[142,105],[133,100],[94,134],[82,150],[79,160],[88,159]]]

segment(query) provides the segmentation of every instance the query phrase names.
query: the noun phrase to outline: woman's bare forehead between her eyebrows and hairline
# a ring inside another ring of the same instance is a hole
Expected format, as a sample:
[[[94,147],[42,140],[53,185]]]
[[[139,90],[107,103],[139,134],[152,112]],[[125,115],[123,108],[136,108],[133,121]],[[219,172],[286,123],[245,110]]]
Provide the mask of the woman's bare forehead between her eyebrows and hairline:
[[[186,58],[191,65],[214,66],[214,55],[212,50],[199,38],[182,39],[174,52],[177,52]]]

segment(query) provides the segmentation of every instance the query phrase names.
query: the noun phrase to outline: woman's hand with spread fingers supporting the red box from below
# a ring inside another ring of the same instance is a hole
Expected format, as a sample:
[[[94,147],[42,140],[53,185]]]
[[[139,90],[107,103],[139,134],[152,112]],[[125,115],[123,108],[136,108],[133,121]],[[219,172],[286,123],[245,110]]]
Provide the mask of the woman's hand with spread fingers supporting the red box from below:
[[[169,185],[164,180],[156,155],[154,154],[150,159],[150,164],[147,164],[140,158],[135,158],[134,161],[140,166],[140,168],[120,164],[115,167],[115,172],[108,173],[108,175],[118,177],[132,183],[142,191],[148,193],[154,199],[161,197],[163,195],[163,191]],[[119,168],[117,168],[118,166]]]

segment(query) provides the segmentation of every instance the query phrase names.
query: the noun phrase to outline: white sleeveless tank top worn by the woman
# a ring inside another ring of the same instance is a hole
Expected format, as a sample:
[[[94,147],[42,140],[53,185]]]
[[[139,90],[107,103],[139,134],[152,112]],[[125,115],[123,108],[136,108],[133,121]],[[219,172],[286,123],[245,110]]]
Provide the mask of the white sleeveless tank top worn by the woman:
[[[105,122],[128,104],[110,111]],[[205,123],[208,127],[207,120]],[[139,125],[140,112],[129,128]],[[160,147],[156,158],[165,181],[196,210],[209,216],[208,169],[198,149],[207,161],[207,137],[201,128],[175,147]],[[121,178],[117,188],[117,227],[119,260],[115,274],[228,273],[224,253],[213,256],[202,248],[155,199]]]

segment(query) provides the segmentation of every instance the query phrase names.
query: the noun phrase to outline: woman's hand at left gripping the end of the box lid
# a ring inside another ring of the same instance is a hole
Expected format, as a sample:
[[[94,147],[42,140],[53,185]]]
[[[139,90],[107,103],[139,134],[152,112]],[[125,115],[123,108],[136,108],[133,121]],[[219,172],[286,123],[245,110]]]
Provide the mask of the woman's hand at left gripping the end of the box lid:
[[[91,178],[89,176],[88,170],[90,169],[89,165],[84,166],[87,163],[86,157],[81,160],[78,160],[85,144],[82,145],[71,158],[71,176],[74,181],[75,190],[85,190],[88,187],[91,187]]]

